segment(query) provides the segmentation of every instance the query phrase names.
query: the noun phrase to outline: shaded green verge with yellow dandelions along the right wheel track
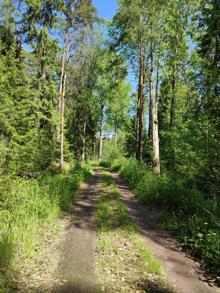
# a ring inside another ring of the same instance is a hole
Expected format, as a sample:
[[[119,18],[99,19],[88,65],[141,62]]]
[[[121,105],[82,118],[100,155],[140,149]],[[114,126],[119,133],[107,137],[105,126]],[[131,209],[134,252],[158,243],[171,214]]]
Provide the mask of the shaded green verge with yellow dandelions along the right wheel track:
[[[219,276],[220,211],[215,198],[188,188],[184,180],[174,175],[157,176],[134,158],[121,157],[100,165],[119,172],[141,202],[160,206],[158,217],[163,226],[177,236],[180,244],[197,256],[210,273]]]

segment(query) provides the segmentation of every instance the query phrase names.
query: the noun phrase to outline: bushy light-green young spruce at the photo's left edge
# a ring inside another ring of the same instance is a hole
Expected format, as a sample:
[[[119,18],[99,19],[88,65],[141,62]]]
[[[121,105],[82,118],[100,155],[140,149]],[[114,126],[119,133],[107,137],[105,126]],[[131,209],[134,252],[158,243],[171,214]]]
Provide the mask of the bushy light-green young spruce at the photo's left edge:
[[[17,64],[16,45],[1,55],[0,116],[1,153],[5,171],[21,173],[30,168],[29,140],[36,131],[33,92],[25,84],[24,62]],[[32,148],[33,146],[31,146]],[[26,156],[26,161],[23,158]],[[29,159],[28,159],[29,156]],[[33,167],[33,166],[32,166]]]

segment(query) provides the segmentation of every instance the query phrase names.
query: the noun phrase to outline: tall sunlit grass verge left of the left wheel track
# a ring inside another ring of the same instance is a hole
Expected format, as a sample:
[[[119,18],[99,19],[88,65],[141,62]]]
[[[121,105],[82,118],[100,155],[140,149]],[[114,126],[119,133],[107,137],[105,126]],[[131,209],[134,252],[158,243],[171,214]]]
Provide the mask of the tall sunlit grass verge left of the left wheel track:
[[[81,164],[68,174],[0,179],[0,288],[34,255],[36,237],[54,229],[57,217],[91,174],[91,165]]]

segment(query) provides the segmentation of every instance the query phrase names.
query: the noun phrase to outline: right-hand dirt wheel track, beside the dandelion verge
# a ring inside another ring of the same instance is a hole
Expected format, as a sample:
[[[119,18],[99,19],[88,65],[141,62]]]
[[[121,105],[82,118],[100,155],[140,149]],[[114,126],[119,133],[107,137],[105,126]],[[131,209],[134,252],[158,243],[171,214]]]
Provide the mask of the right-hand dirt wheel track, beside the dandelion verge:
[[[167,280],[177,292],[219,293],[220,289],[214,285],[214,280],[157,224],[156,212],[138,202],[118,173],[105,169],[114,178],[131,218],[138,224],[141,236],[162,263]]]

